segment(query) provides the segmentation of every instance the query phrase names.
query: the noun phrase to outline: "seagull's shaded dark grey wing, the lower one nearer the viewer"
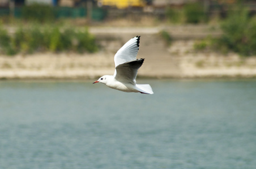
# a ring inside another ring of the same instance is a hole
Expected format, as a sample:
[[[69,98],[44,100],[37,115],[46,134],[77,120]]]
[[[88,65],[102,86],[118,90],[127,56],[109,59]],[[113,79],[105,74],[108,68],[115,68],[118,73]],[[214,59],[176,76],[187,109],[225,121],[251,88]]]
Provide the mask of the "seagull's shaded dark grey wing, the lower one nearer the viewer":
[[[138,69],[142,66],[144,59],[137,59],[128,61],[120,64],[116,67],[116,76],[114,77],[117,81],[124,83],[136,83],[136,76]]]

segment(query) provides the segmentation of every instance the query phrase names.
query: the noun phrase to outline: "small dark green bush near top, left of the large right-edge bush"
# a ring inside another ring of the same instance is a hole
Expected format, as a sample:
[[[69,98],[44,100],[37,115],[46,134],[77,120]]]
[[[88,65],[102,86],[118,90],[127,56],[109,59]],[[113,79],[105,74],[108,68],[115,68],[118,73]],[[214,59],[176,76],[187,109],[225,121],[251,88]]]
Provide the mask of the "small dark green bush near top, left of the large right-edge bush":
[[[202,3],[187,3],[184,6],[184,14],[187,23],[197,24],[202,21],[207,21],[207,16],[204,12]]]

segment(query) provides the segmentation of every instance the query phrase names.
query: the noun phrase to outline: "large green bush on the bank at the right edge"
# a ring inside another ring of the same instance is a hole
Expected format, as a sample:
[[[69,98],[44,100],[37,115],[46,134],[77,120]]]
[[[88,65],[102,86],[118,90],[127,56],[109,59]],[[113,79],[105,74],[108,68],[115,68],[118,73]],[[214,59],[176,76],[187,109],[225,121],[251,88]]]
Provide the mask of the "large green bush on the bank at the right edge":
[[[246,8],[230,10],[221,30],[223,35],[216,40],[216,47],[224,46],[245,56],[256,54],[256,20],[249,17]]]

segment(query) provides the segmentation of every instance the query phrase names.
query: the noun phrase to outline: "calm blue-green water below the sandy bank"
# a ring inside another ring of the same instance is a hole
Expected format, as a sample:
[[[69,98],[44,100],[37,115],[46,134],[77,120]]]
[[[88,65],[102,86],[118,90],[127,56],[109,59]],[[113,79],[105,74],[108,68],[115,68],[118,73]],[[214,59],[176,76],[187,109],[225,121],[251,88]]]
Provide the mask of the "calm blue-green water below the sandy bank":
[[[256,81],[0,82],[0,168],[255,168]]]

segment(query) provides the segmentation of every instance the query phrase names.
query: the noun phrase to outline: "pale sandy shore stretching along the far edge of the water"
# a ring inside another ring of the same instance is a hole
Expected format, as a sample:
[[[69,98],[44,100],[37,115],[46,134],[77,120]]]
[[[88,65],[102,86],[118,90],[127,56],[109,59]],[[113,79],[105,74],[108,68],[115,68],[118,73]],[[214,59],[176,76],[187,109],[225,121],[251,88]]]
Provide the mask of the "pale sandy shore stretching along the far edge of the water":
[[[113,57],[131,37],[141,35],[138,58],[145,58],[138,77],[150,78],[220,78],[256,77],[256,57],[220,54],[193,49],[194,39],[176,39],[167,46],[159,29],[144,33],[124,28],[122,34],[108,28],[93,33],[101,48],[96,54],[33,54],[0,56],[0,79],[95,79],[114,73]],[[148,33],[150,32],[150,33]]]

